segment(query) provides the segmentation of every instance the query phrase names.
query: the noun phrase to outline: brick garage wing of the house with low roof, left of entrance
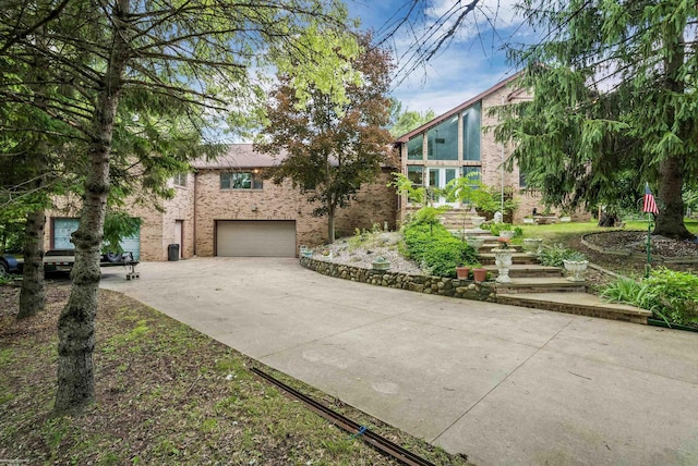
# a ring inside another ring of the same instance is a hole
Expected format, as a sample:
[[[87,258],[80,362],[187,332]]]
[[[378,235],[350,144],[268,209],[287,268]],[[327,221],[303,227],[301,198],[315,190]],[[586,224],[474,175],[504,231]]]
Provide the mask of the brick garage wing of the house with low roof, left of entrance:
[[[296,257],[300,245],[325,243],[327,218],[311,213],[316,205],[285,181],[263,180],[275,159],[255,152],[251,144],[231,145],[217,160],[196,160],[192,173],[170,180],[176,192],[164,200],[163,211],[134,205],[132,216],[142,220],[137,235],[122,243],[141,260],[167,260],[168,246],[180,245],[180,257],[287,256]],[[335,217],[338,235],[354,229],[395,228],[397,196],[387,187],[390,172],[362,186],[357,199]],[[69,213],[64,213],[69,212]],[[70,234],[77,228],[77,210],[62,199],[48,216],[46,248],[72,248]],[[71,214],[72,213],[72,214]]]

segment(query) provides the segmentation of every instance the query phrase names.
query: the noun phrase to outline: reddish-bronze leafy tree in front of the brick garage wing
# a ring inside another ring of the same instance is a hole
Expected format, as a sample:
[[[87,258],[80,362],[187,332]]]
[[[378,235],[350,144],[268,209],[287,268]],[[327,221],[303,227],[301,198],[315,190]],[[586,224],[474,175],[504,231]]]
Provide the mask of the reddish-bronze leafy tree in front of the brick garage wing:
[[[393,138],[383,126],[388,121],[390,57],[370,40],[360,37],[362,51],[342,59],[362,79],[346,81],[339,98],[332,86],[309,84],[301,93],[291,77],[280,74],[255,145],[264,154],[286,151],[269,176],[277,184],[290,179],[309,201],[321,203],[313,214],[327,216],[328,243],[334,242],[337,209],[351,201],[362,183],[374,180],[389,157]],[[341,49],[334,49],[341,57]]]

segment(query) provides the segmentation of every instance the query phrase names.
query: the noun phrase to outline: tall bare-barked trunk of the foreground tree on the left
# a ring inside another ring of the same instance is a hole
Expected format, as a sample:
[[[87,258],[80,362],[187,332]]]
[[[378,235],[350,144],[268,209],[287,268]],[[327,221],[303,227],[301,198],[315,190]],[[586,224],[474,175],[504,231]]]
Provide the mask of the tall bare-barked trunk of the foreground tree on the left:
[[[113,47],[93,114],[91,163],[85,179],[80,226],[73,233],[75,263],[71,271],[71,294],[58,321],[56,413],[79,412],[95,398],[92,356],[100,279],[99,256],[109,193],[113,122],[128,59],[129,32],[124,26],[128,11],[129,0],[118,0],[111,19]]]

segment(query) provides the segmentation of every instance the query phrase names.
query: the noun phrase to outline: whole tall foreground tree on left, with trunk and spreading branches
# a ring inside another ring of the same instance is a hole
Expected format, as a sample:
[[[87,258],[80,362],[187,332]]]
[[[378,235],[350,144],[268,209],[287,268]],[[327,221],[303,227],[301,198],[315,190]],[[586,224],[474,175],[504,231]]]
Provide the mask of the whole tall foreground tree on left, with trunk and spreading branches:
[[[72,0],[58,7],[36,0],[28,7],[10,0],[0,14],[2,76],[20,79],[1,87],[0,98],[38,109],[73,131],[75,154],[60,155],[82,184],[71,296],[59,319],[55,409],[65,412],[94,400],[94,318],[112,181],[131,170],[157,183],[166,173],[158,169],[181,168],[212,114],[242,118],[234,109],[244,109],[246,89],[256,87],[251,66],[292,47],[309,25],[340,29],[346,14],[314,0]],[[47,63],[48,77],[22,72],[36,57]],[[46,106],[36,105],[31,83],[48,97]],[[177,146],[183,133],[182,150]],[[168,146],[184,159],[154,151]]]

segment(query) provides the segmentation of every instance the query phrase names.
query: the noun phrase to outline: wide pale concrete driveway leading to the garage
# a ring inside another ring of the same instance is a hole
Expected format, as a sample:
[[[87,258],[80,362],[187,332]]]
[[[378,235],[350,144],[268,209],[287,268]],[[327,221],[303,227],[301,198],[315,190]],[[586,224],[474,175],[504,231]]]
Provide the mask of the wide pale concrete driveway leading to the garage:
[[[296,259],[103,269],[134,297],[479,465],[698,464],[698,333],[382,289]]]

